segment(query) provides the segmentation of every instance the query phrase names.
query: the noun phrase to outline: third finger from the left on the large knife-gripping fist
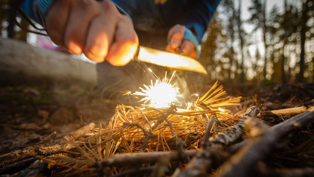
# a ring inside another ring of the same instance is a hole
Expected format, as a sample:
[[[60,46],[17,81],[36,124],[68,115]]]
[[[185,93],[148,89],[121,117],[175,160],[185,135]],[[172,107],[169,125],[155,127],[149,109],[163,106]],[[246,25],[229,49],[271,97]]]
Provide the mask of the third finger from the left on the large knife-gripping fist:
[[[90,60],[103,62],[112,43],[116,27],[116,18],[106,13],[95,18],[89,27],[84,54]]]

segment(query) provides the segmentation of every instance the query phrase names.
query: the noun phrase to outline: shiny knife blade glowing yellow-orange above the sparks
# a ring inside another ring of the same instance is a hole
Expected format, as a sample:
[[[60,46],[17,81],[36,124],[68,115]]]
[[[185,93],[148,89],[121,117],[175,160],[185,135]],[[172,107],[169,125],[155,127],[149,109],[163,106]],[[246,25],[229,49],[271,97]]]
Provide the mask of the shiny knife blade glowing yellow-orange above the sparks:
[[[138,47],[138,51],[134,55],[133,60],[173,69],[182,69],[207,74],[203,65],[191,57],[143,46]]]

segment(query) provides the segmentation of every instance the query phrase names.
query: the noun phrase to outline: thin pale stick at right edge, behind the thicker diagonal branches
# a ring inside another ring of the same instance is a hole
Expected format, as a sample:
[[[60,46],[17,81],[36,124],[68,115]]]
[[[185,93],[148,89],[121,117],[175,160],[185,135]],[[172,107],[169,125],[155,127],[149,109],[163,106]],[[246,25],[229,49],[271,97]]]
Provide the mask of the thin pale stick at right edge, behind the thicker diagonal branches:
[[[290,115],[297,115],[297,114],[301,114],[303,112],[309,112],[309,111],[314,111],[314,106],[311,106],[311,107],[301,106],[301,107],[279,109],[279,110],[273,110],[273,111],[261,111],[257,115],[257,117],[261,117],[261,116],[265,116],[265,117],[290,116]]]

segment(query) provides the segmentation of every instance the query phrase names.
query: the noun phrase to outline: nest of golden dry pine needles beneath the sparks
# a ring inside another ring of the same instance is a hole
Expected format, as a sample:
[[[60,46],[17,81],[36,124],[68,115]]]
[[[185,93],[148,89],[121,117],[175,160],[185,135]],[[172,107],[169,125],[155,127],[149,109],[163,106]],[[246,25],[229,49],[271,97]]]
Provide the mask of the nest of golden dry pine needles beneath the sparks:
[[[180,109],[175,104],[167,108],[117,105],[106,128],[100,124],[83,140],[70,142],[76,147],[75,151],[67,151],[71,156],[60,155],[45,160],[57,165],[57,170],[53,171],[56,176],[114,175],[123,168],[111,167],[100,172],[95,163],[117,153],[176,151],[179,138],[185,149],[198,149],[209,117],[219,120],[219,129],[230,126],[238,117],[228,107],[238,106],[240,99],[226,96],[223,87],[216,82],[187,109]]]

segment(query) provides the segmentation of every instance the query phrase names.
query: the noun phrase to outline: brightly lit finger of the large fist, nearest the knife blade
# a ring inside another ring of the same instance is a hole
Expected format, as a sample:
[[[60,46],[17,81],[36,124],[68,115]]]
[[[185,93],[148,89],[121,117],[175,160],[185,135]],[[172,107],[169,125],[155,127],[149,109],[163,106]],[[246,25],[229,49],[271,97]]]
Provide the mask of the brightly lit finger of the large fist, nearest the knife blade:
[[[133,59],[137,48],[137,34],[130,19],[123,15],[116,26],[115,39],[109,48],[106,60],[113,66],[124,66]]]

